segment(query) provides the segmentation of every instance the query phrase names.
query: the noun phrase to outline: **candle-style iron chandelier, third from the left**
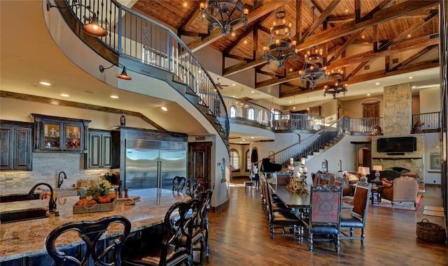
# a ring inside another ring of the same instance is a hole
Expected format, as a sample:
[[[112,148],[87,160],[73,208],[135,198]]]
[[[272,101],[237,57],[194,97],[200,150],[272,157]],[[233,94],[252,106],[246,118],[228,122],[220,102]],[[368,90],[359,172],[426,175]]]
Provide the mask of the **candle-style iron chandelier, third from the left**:
[[[313,12],[313,24],[314,24],[314,9],[311,8]],[[314,45],[309,48],[304,54],[304,64],[301,71],[299,71],[299,80],[301,82],[309,82],[311,89],[317,86],[317,81],[321,79],[327,79],[327,67],[323,66],[323,50]]]

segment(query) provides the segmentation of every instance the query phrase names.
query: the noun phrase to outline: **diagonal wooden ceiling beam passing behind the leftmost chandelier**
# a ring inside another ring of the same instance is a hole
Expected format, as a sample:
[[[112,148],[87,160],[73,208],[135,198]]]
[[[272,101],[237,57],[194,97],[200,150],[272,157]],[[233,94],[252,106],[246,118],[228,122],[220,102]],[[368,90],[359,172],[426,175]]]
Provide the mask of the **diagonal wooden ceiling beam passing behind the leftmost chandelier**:
[[[289,0],[281,0],[281,1],[270,1],[268,3],[265,3],[260,8],[256,8],[255,10],[251,11],[247,15],[247,23],[251,23],[255,20],[258,20],[260,17],[265,15],[266,13],[269,13],[273,10],[276,10],[276,8],[279,8],[286,3],[288,3]],[[233,27],[233,30],[236,31],[237,29],[240,29],[241,27],[244,27],[243,24],[238,23]],[[213,43],[216,40],[219,40],[223,37],[223,34],[221,34],[220,29],[215,29],[209,36],[206,38],[203,38],[202,40],[195,40],[192,43],[188,43],[188,47],[192,52],[197,52],[197,50],[200,50],[201,48],[209,45],[210,43]]]

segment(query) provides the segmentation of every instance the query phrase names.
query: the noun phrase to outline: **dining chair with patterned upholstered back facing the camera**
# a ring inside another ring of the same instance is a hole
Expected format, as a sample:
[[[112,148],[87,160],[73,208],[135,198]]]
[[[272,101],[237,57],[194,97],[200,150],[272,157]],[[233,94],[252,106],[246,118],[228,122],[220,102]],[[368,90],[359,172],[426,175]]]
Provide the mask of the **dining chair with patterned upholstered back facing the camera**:
[[[314,241],[333,242],[339,253],[342,187],[335,185],[311,186],[308,238],[309,251]]]

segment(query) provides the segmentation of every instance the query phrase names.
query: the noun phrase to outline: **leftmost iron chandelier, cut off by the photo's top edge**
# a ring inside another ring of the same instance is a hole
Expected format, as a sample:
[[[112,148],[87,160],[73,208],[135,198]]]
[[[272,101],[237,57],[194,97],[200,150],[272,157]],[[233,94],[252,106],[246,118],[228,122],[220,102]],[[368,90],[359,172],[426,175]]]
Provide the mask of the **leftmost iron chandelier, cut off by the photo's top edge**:
[[[221,27],[221,34],[231,34],[238,22],[246,27],[249,10],[241,0],[207,0],[200,3],[200,9],[202,20],[209,22],[209,32],[216,26]]]

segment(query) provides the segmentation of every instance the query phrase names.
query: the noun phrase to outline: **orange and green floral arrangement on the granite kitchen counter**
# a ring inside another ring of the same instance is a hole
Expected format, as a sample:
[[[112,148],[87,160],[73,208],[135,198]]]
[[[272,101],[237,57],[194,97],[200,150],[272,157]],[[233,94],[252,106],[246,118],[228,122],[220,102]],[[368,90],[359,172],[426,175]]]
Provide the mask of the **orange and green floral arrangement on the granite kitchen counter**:
[[[83,195],[79,196],[76,205],[94,205],[112,202],[116,198],[116,193],[109,181],[99,177],[93,179],[87,186],[87,190]]]

